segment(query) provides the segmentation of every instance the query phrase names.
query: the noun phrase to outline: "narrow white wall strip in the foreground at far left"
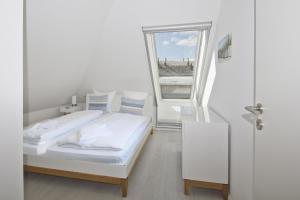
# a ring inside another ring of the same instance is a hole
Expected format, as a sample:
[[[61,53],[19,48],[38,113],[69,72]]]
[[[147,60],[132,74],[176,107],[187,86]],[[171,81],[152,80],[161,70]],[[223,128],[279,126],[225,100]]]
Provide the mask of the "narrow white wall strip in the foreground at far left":
[[[23,199],[23,1],[0,1],[0,199]]]

